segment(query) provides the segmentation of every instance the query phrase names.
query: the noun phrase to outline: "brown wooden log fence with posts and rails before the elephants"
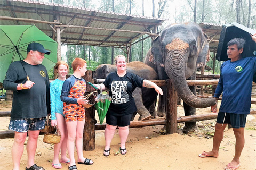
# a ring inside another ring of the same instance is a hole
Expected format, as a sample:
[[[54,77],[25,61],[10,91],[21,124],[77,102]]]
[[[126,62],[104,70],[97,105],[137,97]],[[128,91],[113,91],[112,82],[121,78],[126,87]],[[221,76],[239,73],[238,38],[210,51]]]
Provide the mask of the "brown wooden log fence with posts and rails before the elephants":
[[[209,78],[210,75],[206,75]],[[213,78],[215,75],[212,75]],[[203,75],[201,75],[203,77]],[[92,79],[92,73],[89,71],[86,72],[84,77],[86,82],[94,83]],[[95,81],[95,83],[102,82],[101,80]],[[177,117],[177,92],[170,80],[153,80],[158,86],[167,86],[167,104],[166,104],[166,118],[157,118],[145,121],[131,121],[131,125],[129,128],[139,128],[143,126],[153,126],[153,125],[166,125],[166,134],[177,133],[178,123],[181,122],[195,122],[195,121],[203,121],[217,118],[217,113],[205,114],[205,115],[193,115],[193,116],[181,116]],[[189,86],[206,86],[206,85],[217,85],[218,80],[187,80]],[[91,90],[91,89],[87,89]],[[209,96],[200,96],[199,97],[209,97]],[[219,99],[221,100],[221,98]],[[256,100],[252,99],[252,104],[256,104]],[[95,149],[95,130],[104,130],[106,124],[97,124],[95,120],[95,108],[91,107],[85,110],[86,118],[85,118],[85,128],[84,128],[84,137],[83,137],[83,149],[94,150]],[[255,114],[256,110],[251,109],[251,114]],[[10,116],[10,112],[0,112],[0,117]],[[0,139],[3,138],[13,138],[14,132],[0,131]]]

